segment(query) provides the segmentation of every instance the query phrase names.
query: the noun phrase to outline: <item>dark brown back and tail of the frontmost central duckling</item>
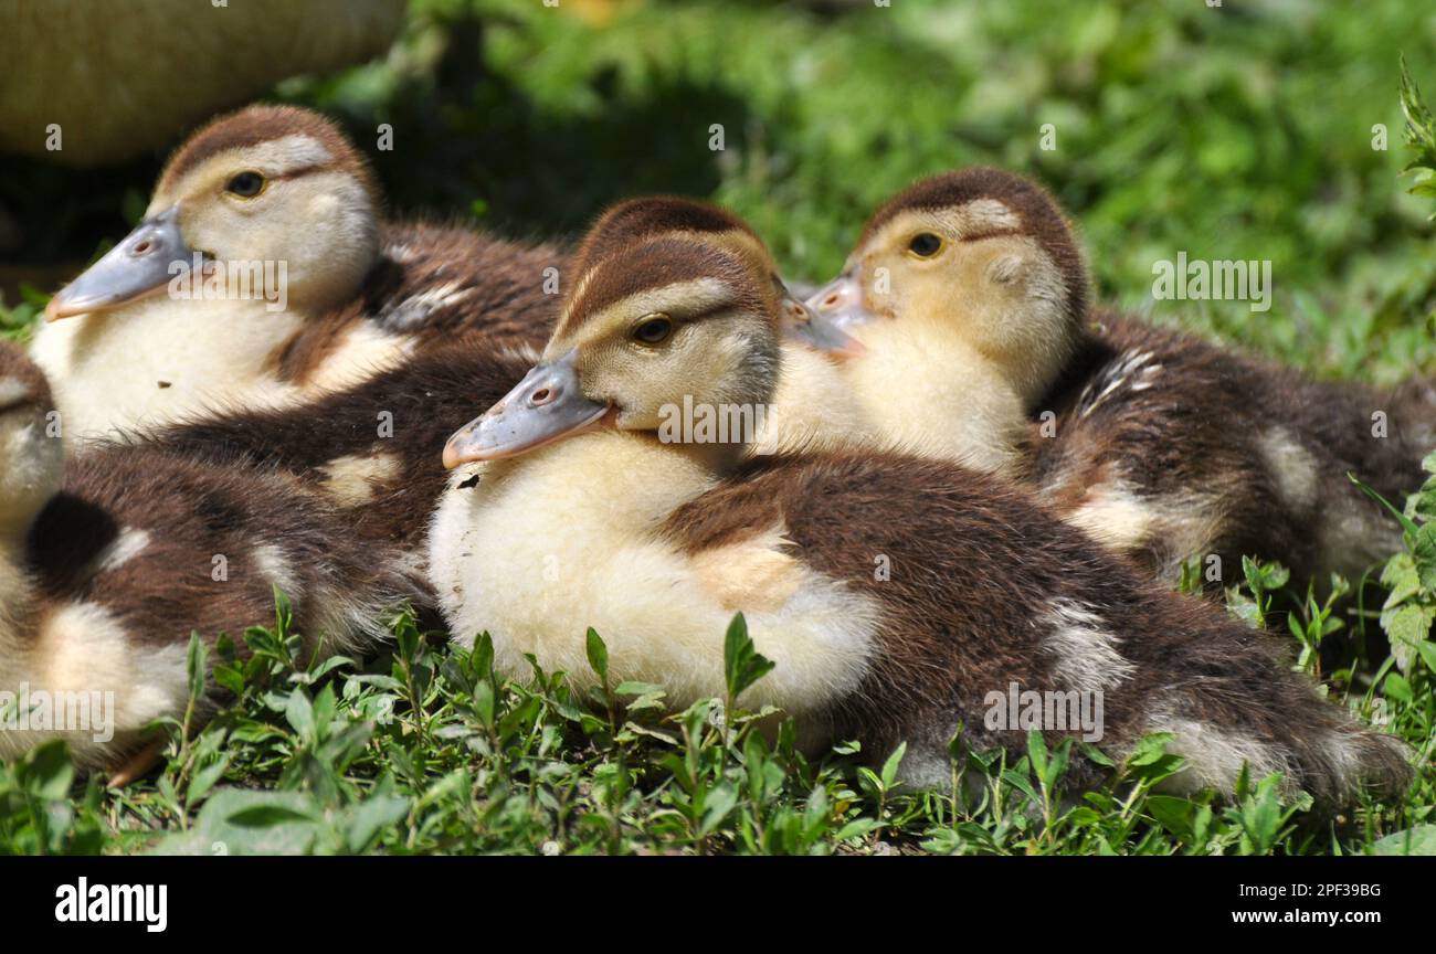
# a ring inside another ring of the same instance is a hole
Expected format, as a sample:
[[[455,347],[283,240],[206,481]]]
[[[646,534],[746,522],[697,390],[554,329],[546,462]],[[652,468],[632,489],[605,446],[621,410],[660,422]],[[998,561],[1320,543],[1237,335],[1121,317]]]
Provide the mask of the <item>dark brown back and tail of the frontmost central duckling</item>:
[[[1328,805],[1409,779],[1402,743],[1324,702],[1275,637],[1144,581],[1001,482],[922,459],[770,458],[678,509],[665,534],[696,558],[775,525],[778,552],[873,613],[860,677],[807,712],[813,735],[857,737],[875,757],[906,740],[915,783],[951,779],[959,724],[968,746],[1021,752],[1025,729],[994,722],[992,700],[1027,691],[1100,700],[1109,753],[1172,732],[1179,790],[1231,790],[1244,762]],[[750,631],[765,654],[790,638]]]

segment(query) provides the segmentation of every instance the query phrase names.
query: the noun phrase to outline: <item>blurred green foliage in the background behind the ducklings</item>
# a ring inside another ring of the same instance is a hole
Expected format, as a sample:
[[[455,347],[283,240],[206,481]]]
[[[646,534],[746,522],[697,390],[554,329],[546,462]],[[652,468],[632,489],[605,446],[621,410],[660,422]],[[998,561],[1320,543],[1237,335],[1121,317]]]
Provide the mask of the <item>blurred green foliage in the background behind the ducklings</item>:
[[[807,280],[913,178],[999,164],[1066,204],[1106,300],[1390,382],[1436,367],[1433,228],[1400,178],[1397,96],[1403,52],[1436,77],[1433,39],[1436,10],[1407,0],[411,0],[383,62],[276,98],[340,118],[398,212],[551,238],[623,195],[704,195]],[[92,254],[159,159],[83,189],[22,168],[0,185],[22,254]],[[1272,260],[1272,311],[1153,303],[1152,264],[1178,251]]]

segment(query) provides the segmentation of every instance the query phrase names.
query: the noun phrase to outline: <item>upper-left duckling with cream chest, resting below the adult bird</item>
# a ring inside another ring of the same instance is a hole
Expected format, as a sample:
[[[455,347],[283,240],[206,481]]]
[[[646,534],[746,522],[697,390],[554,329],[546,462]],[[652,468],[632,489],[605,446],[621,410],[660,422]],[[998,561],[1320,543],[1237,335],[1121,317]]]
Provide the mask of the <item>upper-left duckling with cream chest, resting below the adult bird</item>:
[[[319,113],[251,106],[194,133],[145,219],[46,308],[32,353],[66,433],[294,406],[470,333],[543,343],[554,250],[385,222],[379,207],[363,156]]]

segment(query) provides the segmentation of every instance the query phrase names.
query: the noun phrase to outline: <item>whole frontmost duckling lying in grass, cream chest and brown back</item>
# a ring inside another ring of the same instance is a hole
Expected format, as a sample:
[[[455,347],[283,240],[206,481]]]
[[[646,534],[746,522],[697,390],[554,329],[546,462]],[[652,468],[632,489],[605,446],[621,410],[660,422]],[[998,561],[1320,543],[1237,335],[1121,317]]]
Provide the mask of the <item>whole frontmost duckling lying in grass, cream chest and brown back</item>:
[[[1018,689],[1104,694],[1111,753],[1175,733],[1180,790],[1231,790],[1244,763],[1333,803],[1404,785],[1400,745],[1320,699],[1274,637],[1144,581],[1002,481],[880,450],[665,438],[685,400],[773,400],[780,296],[699,234],[590,252],[541,362],[444,452],[429,572],[451,633],[491,634],[500,671],[527,674],[531,654],[592,686],[592,625],[613,677],[682,707],[724,694],[741,611],[777,663],[744,704],[784,709],[816,750],[857,739],[883,757],[906,740],[913,785],[949,782],[959,724],[965,745],[1021,750],[1025,732],[984,709]]]

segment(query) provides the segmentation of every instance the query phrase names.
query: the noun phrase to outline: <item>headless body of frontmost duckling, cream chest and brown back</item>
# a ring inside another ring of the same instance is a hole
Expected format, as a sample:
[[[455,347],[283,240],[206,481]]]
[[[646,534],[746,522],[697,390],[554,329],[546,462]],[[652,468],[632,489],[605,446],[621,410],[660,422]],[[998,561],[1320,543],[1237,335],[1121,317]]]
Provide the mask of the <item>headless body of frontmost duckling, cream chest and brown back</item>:
[[[1053,742],[1120,757],[1173,733],[1183,792],[1231,790],[1244,763],[1328,805],[1409,776],[1400,743],[1318,697],[1275,637],[936,461],[773,455],[715,479],[652,439],[586,435],[457,473],[429,567],[455,638],[488,633],[501,671],[526,674],[531,654],[590,684],[592,625],[610,677],[656,683],[675,707],[724,696],[741,611],[777,663],[744,706],[794,716],[816,752],[857,739],[880,759],[908,742],[919,786],[949,782],[958,726],[966,746],[1021,753],[1027,723],[994,722],[992,700],[1024,693],[1096,713],[1034,723]],[[1073,776],[1101,779],[1093,763]]]

